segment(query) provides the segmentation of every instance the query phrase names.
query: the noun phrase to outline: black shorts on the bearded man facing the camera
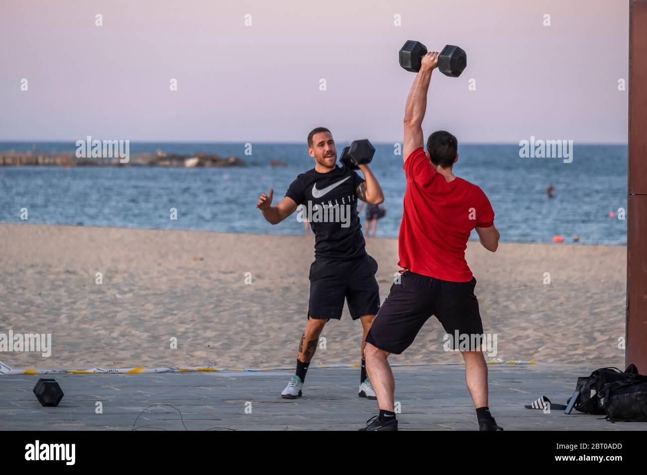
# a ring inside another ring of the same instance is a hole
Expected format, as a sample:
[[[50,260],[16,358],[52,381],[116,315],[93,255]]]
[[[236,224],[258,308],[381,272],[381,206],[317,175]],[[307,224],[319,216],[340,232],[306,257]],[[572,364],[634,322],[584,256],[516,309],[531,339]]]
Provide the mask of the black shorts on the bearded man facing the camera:
[[[376,272],[377,262],[368,254],[353,260],[316,259],[310,266],[308,315],[340,320],[344,299],[353,320],[375,315],[380,308]]]

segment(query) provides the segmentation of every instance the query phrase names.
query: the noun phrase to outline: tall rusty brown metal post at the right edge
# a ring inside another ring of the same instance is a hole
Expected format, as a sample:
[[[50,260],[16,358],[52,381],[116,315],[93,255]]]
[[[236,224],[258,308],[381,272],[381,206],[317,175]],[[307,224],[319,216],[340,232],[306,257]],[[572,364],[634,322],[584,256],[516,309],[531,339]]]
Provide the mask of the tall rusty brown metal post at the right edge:
[[[647,0],[630,3],[625,366],[647,374]]]

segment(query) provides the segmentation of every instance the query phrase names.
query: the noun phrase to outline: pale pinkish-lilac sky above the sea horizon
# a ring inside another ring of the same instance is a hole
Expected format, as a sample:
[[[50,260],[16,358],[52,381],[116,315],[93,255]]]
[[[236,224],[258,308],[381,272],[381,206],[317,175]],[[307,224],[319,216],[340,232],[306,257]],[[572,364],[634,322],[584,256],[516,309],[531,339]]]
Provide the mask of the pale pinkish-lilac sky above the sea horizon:
[[[467,52],[426,133],[626,143],[628,25],[628,0],[0,0],[0,140],[400,142],[415,39]]]

